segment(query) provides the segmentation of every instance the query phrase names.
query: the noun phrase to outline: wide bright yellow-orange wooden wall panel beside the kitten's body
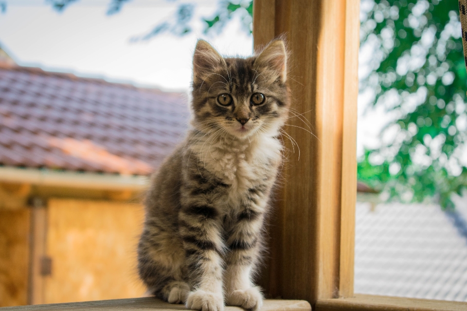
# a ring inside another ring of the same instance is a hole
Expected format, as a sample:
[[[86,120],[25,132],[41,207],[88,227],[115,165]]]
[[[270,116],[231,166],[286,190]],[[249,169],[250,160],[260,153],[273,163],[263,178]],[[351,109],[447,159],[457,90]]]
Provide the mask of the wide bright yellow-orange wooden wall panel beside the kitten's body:
[[[144,220],[137,204],[51,199],[45,303],[139,297],[136,245]]]

